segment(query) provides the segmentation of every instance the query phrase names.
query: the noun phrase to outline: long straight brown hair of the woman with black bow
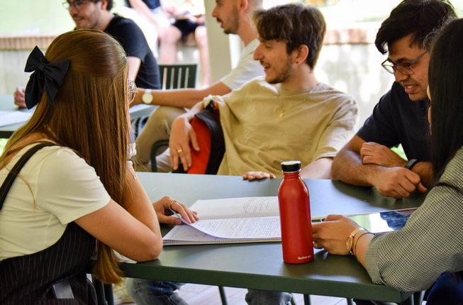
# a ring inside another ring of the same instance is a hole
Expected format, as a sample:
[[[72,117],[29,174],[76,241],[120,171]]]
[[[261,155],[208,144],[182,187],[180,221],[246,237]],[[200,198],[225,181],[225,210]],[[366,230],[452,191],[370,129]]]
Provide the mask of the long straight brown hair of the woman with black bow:
[[[53,40],[45,57],[48,62],[69,60],[65,81],[53,105],[43,94],[30,121],[6,143],[0,162],[18,140],[45,133],[94,167],[111,199],[123,205],[129,134],[123,48],[99,30],[73,30]],[[96,277],[119,282],[122,273],[113,250],[99,241],[97,249]]]

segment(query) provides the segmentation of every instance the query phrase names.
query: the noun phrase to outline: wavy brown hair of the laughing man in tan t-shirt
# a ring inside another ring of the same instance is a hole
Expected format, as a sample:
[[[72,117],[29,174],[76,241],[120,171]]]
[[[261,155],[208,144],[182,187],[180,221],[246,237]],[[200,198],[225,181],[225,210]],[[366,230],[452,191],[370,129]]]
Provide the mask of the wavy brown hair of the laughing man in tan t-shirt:
[[[288,54],[307,45],[307,64],[315,67],[326,32],[325,18],[315,6],[286,4],[255,12],[257,32],[263,40],[286,42]]]

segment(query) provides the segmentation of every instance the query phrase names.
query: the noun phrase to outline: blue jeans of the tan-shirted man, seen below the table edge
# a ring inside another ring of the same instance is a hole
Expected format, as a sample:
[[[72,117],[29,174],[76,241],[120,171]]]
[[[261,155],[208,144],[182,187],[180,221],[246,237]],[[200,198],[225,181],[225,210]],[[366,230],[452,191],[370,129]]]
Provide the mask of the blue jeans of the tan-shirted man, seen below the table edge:
[[[150,279],[126,279],[125,286],[137,305],[187,305],[175,290],[183,283],[153,281]],[[250,305],[290,305],[292,295],[286,292],[249,289],[246,302]]]

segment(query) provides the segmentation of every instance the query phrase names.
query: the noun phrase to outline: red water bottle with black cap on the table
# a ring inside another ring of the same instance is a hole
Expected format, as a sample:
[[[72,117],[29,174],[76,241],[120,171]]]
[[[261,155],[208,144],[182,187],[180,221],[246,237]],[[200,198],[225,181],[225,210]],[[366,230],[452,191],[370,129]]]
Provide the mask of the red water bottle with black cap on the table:
[[[278,189],[283,260],[301,264],[313,260],[311,208],[301,179],[301,161],[281,162],[284,177]]]

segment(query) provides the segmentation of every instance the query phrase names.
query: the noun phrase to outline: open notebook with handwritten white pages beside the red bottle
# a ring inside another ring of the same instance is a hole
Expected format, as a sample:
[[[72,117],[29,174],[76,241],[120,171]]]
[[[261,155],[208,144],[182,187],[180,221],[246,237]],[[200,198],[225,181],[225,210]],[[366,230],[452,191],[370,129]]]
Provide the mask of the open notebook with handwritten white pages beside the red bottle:
[[[163,238],[164,245],[281,240],[276,196],[198,200],[190,209],[198,212],[200,220],[172,228]]]

